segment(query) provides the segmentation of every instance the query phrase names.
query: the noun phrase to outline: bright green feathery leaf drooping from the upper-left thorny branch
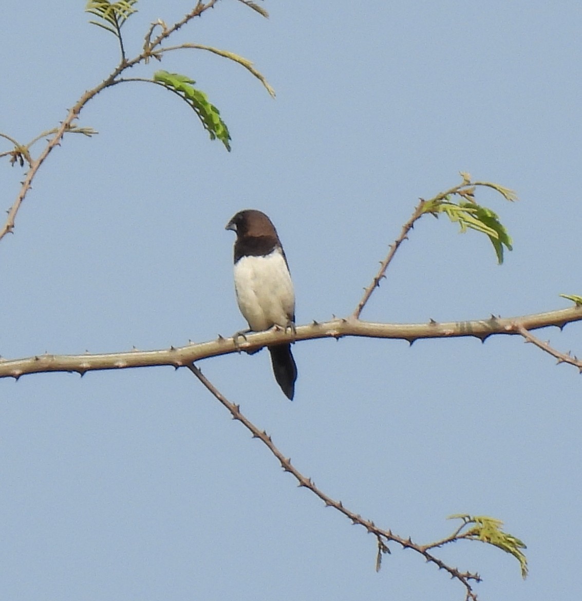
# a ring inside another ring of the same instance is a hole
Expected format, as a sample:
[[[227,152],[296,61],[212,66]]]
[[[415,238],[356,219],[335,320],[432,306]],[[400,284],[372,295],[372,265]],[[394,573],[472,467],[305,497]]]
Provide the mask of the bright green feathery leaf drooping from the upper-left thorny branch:
[[[192,86],[196,83],[193,79],[180,75],[180,73],[156,71],[153,75],[153,81],[158,82],[185,100],[198,115],[204,129],[209,133],[210,139],[218,138],[230,152],[231,138],[228,127],[222,121],[219,110],[209,102],[206,94]]]

